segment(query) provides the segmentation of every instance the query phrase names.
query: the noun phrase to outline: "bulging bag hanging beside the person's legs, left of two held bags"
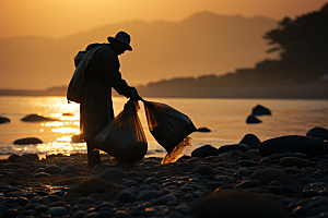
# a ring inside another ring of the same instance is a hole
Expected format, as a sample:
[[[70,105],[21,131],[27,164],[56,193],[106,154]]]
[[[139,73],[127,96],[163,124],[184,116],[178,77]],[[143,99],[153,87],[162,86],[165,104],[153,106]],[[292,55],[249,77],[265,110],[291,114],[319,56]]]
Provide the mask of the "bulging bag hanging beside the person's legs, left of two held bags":
[[[94,138],[95,148],[113,155],[119,162],[141,160],[148,143],[137,114],[138,101],[129,100],[125,109]]]

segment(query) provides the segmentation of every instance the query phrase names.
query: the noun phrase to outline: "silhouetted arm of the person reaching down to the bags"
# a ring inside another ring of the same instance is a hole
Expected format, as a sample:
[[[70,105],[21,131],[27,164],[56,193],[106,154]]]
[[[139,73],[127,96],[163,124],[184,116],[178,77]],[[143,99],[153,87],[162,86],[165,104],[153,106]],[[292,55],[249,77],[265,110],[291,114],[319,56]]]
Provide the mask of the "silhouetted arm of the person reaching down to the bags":
[[[101,71],[107,83],[110,84],[119,95],[124,95],[128,98],[138,98],[137,89],[129,86],[127,82],[121,78],[117,56],[107,53],[108,51],[106,52],[106,49],[104,49],[103,52],[99,61]]]

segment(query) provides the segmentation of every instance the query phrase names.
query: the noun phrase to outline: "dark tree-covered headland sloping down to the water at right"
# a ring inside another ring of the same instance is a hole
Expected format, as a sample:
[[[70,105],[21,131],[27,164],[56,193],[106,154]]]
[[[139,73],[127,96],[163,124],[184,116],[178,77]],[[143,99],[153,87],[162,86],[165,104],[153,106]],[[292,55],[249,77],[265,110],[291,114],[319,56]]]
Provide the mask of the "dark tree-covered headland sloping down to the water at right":
[[[321,10],[291,20],[285,17],[263,38],[280,51],[279,60],[262,60],[255,68],[237,69],[225,75],[179,77],[150,83],[147,88],[178,87],[321,87],[328,89],[328,3]]]

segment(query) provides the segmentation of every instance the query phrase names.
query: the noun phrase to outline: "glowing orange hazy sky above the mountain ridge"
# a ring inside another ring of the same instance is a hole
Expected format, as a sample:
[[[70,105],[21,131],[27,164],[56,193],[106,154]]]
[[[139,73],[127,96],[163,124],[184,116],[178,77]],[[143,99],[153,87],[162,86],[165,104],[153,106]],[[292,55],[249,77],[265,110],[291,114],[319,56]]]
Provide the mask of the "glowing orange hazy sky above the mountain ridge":
[[[0,37],[55,38],[122,21],[180,21],[199,11],[281,20],[320,9],[327,0],[0,0]]]

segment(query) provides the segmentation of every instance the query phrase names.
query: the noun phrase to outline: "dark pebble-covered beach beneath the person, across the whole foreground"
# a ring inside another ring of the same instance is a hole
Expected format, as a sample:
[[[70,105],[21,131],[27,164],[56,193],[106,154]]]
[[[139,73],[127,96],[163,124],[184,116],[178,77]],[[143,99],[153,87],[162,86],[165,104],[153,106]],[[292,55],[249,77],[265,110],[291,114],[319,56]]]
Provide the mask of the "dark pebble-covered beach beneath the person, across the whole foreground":
[[[0,160],[0,217],[328,217],[328,155],[204,149],[166,165],[103,154],[94,169],[86,154],[12,155]]]

